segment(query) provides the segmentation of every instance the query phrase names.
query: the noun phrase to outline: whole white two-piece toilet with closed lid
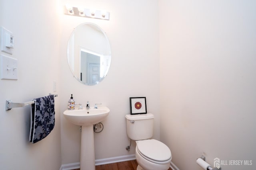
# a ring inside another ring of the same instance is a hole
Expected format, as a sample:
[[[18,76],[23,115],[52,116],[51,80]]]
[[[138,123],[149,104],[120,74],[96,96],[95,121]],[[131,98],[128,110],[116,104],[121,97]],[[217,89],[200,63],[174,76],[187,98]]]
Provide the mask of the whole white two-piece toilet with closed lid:
[[[154,115],[151,113],[125,115],[126,131],[136,141],[137,170],[168,170],[172,153],[162,142],[150,139],[153,136]]]

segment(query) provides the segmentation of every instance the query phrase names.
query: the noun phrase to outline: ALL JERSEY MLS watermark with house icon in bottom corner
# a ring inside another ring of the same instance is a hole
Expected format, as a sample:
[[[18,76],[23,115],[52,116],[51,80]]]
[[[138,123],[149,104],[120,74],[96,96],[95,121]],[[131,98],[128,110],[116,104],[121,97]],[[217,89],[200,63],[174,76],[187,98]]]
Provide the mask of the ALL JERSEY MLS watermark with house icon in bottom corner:
[[[220,158],[214,158],[213,165],[216,168],[220,168],[221,165],[252,165],[252,160],[220,160]]]

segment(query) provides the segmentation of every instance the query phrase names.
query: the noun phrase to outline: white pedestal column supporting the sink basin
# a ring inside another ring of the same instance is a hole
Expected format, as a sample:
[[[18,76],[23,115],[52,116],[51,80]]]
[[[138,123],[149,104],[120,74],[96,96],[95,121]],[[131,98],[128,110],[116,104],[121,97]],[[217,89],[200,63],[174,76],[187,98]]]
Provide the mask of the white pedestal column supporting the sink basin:
[[[80,170],[95,170],[93,125],[82,126]]]

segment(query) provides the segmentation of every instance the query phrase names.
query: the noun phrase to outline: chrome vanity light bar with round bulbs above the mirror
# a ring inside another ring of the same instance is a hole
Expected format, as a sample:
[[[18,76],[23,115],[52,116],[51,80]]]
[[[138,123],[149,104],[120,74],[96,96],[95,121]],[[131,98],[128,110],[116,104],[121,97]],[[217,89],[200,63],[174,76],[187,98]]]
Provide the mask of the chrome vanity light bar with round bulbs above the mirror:
[[[90,10],[80,7],[72,7],[69,5],[66,5],[64,7],[64,14],[109,20],[109,12],[101,10]]]

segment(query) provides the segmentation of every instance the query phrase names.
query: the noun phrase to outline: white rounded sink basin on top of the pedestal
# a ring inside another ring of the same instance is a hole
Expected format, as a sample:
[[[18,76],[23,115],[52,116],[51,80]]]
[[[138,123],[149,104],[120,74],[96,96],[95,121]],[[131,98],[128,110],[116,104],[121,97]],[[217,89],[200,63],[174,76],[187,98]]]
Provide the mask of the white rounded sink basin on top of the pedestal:
[[[108,107],[98,107],[98,109],[67,109],[63,114],[68,121],[75,125],[90,126],[103,121],[109,112]]]

